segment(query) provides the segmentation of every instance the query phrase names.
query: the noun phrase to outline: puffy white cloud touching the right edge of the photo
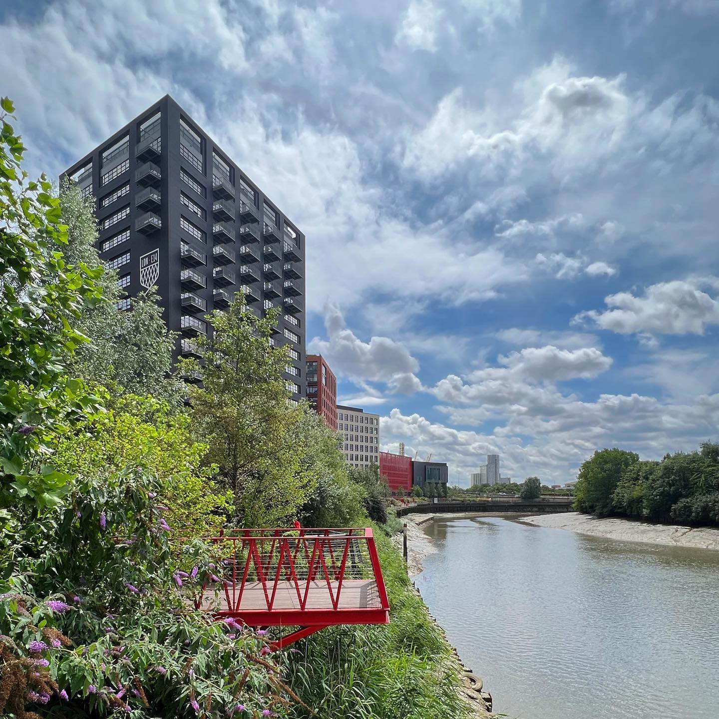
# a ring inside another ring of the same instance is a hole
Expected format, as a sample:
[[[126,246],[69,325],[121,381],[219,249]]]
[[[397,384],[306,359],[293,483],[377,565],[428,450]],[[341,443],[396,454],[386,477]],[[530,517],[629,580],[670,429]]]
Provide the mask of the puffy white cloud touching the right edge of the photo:
[[[719,324],[719,301],[691,280],[674,280],[646,288],[644,296],[631,292],[608,295],[608,310],[582,312],[576,321],[589,320],[618,334],[704,334]]]

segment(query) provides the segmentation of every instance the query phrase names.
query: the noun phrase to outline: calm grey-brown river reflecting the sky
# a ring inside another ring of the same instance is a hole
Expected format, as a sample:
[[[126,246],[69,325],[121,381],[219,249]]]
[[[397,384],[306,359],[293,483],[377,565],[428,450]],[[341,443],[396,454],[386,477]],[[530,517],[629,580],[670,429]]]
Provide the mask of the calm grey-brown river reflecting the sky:
[[[717,719],[719,551],[436,518],[415,577],[495,712]]]

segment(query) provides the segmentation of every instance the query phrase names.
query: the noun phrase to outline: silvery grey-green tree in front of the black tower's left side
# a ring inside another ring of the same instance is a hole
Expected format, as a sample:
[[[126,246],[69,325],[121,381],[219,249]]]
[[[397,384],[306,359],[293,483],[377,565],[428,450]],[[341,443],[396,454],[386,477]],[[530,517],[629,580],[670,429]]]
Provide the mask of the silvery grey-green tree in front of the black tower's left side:
[[[63,254],[68,262],[103,267],[97,280],[102,300],[86,307],[75,321],[90,341],[68,357],[68,370],[88,383],[113,384],[116,391],[129,394],[150,394],[178,408],[186,390],[173,372],[177,333],[169,332],[162,320],[154,288],[134,297],[129,311],[118,308],[124,291],[117,285],[117,273],[103,265],[96,249],[93,204],[93,198],[83,198],[74,183],[63,182],[60,206],[68,226]]]

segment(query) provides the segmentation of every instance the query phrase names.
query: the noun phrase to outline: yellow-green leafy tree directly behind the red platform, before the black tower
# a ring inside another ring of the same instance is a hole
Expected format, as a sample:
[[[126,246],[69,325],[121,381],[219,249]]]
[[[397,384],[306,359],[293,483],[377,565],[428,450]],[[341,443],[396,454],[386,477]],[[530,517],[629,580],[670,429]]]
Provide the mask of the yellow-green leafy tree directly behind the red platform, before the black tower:
[[[286,523],[316,484],[296,441],[303,409],[290,404],[283,379],[289,355],[270,345],[278,316],[257,318],[237,295],[227,311],[209,316],[212,335],[198,338],[204,365],[183,362],[203,381],[190,392],[193,431],[209,445],[205,462],[219,467],[244,526]]]

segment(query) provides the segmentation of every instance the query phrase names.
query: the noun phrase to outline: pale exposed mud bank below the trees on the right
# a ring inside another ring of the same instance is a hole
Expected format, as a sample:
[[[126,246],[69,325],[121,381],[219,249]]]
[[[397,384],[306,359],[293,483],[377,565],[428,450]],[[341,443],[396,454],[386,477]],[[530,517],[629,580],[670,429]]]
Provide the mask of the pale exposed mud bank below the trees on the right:
[[[719,550],[719,529],[709,527],[650,524],[615,517],[596,518],[578,512],[522,517],[521,521],[538,527],[566,529],[603,539]]]

